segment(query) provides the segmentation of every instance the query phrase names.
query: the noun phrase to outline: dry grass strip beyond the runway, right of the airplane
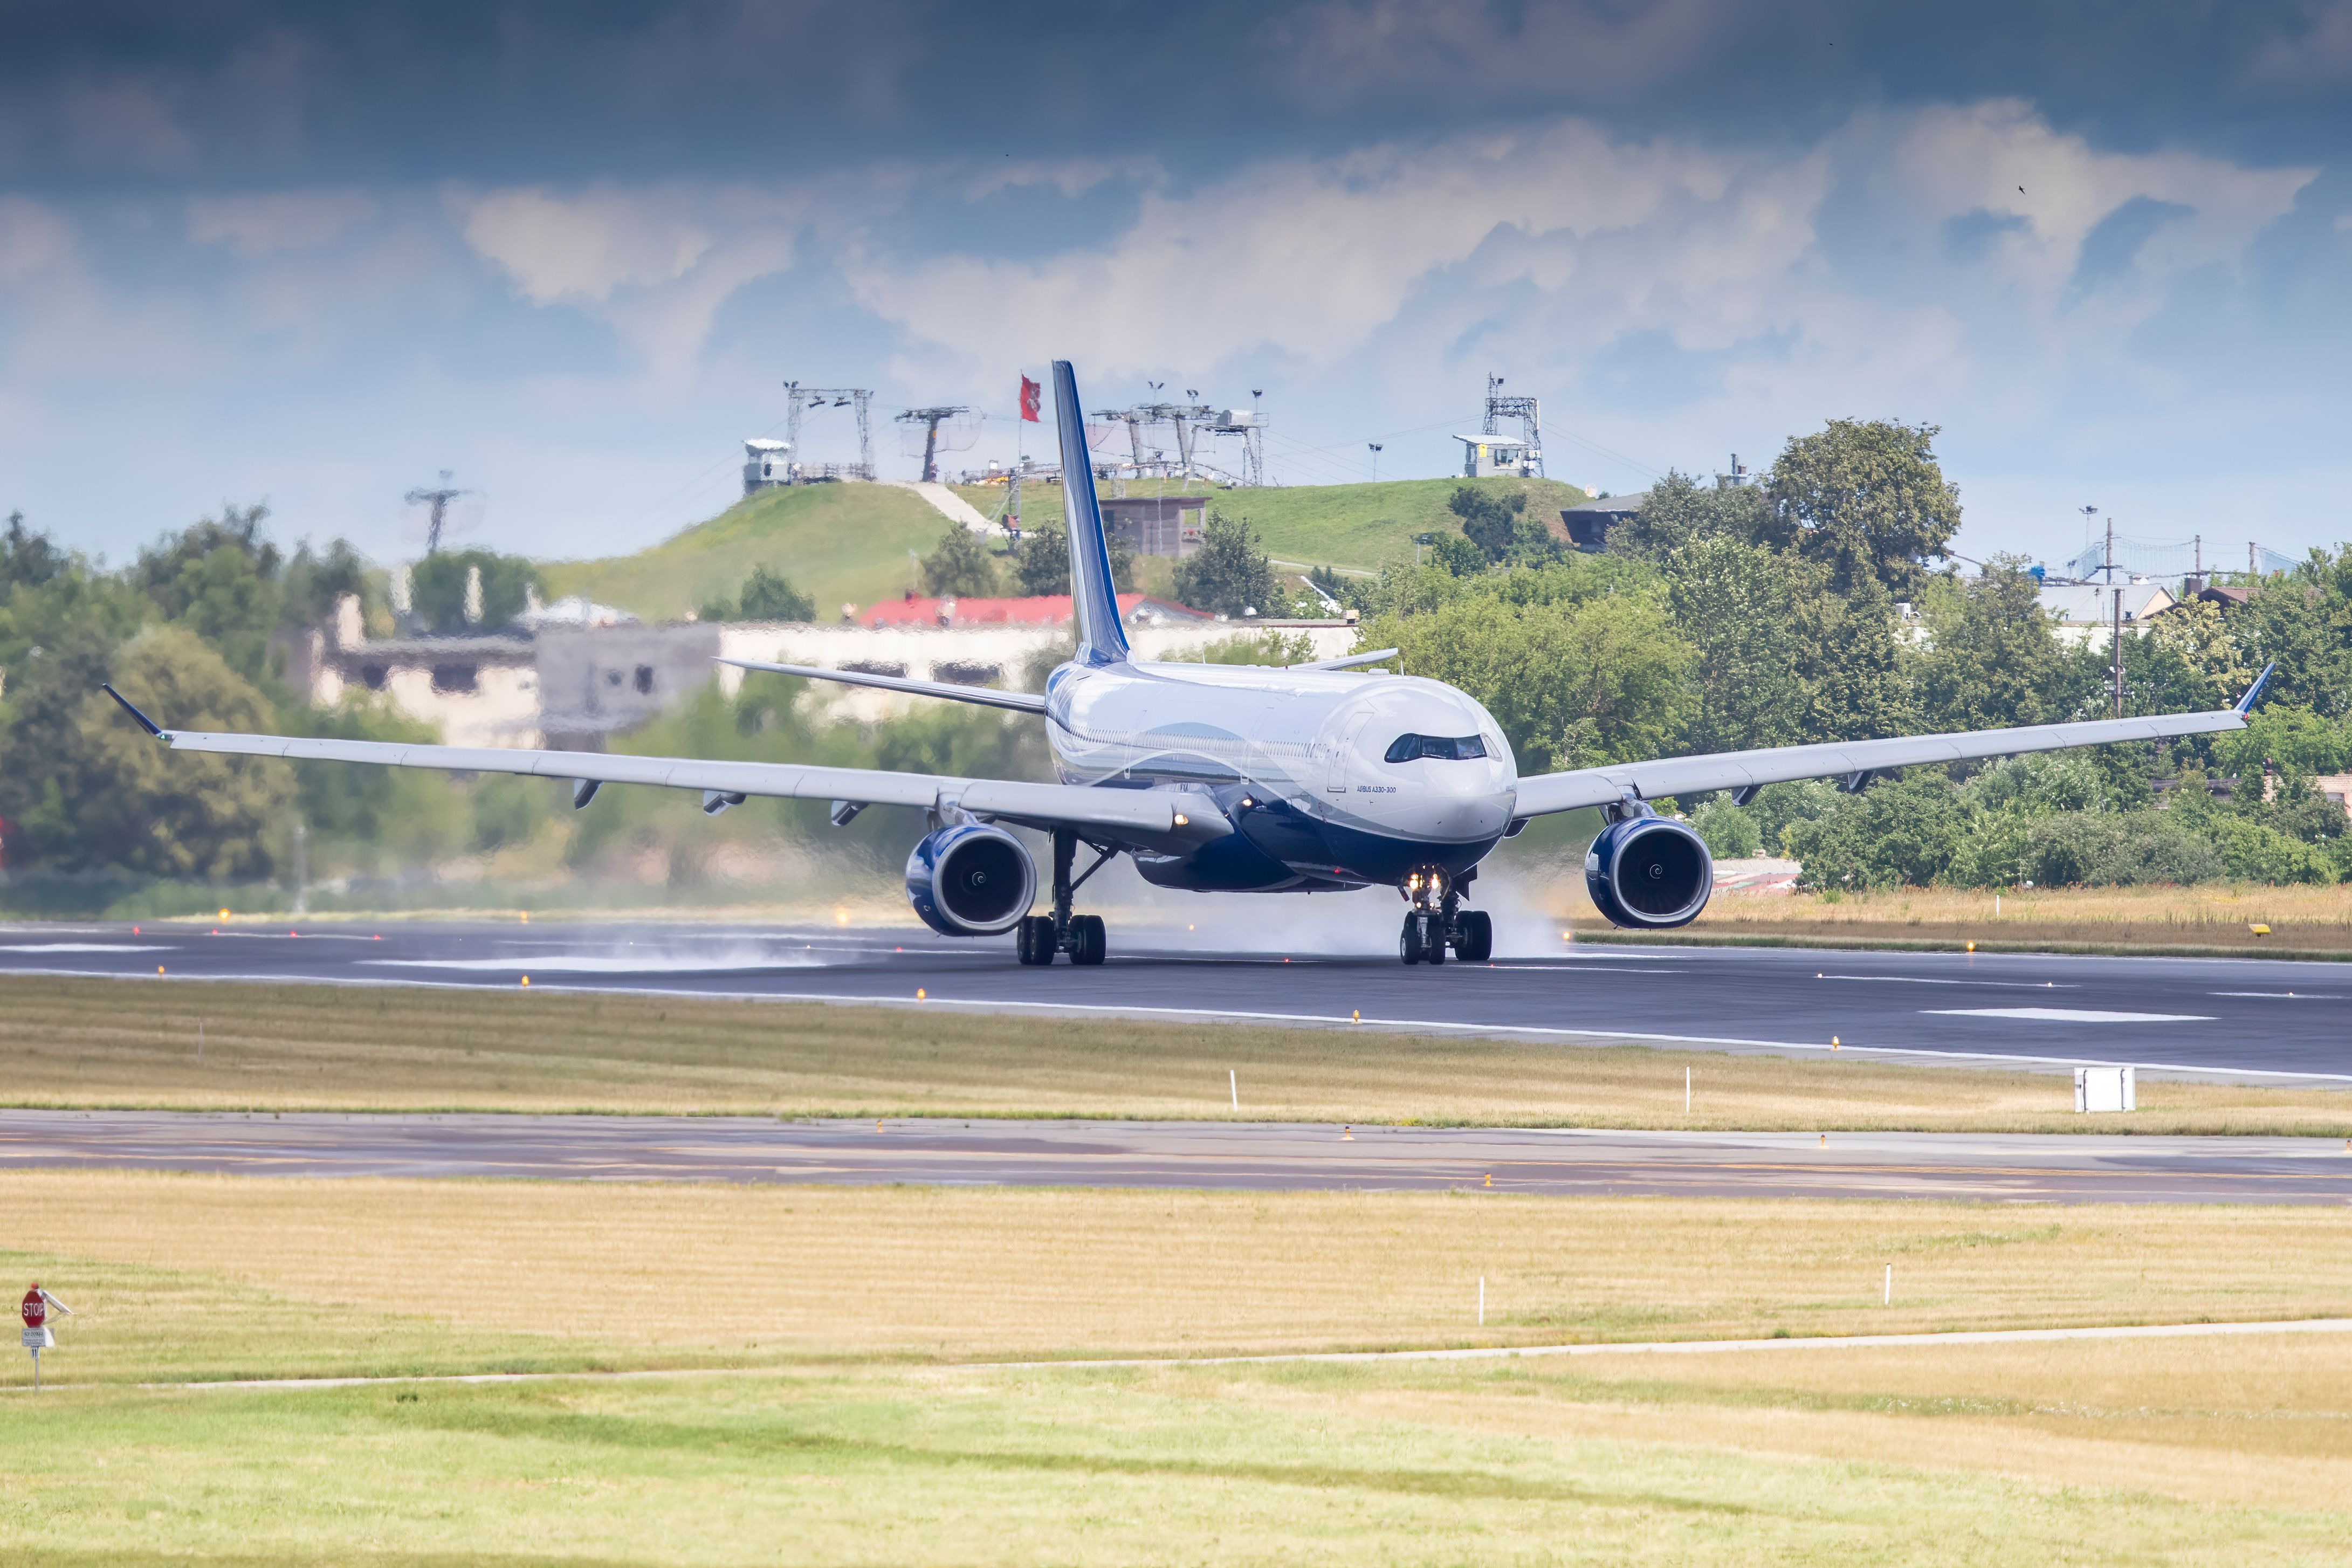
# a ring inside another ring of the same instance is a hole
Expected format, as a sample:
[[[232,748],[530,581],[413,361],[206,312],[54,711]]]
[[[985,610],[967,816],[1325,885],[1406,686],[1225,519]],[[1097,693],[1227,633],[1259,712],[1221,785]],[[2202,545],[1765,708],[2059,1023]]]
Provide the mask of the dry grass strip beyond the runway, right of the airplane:
[[[1613,931],[1578,893],[1566,898],[1578,940]],[[2251,926],[2270,926],[2258,936]],[[1693,938],[1797,936],[2011,947],[2201,947],[2352,959],[2352,886],[1896,889],[1889,893],[1722,896]]]

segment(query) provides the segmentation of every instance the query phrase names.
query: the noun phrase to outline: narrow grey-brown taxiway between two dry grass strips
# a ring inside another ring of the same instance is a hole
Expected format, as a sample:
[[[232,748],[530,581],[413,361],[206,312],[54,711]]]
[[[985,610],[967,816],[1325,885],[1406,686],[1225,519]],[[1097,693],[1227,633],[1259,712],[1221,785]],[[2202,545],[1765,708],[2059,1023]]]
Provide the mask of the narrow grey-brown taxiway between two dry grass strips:
[[[1548,1197],[2352,1204],[2331,1138],[0,1112],[0,1168]]]

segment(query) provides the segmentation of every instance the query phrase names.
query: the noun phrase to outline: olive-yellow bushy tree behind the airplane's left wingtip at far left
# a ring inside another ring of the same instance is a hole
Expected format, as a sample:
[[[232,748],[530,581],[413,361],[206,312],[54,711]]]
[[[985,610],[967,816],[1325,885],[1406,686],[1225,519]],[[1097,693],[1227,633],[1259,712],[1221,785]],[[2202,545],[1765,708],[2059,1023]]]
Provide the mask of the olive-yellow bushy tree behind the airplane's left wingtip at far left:
[[[209,757],[158,745],[75,672],[42,693],[40,804],[24,813],[35,851],[59,870],[120,865],[153,877],[249,879],[273,867],[268,839],[292,820],[294,776],[275,757]],[[256,731],[268,701],[195,632],[158,628],[113,661],[122,696],[183,729]],[[24,741],[24,722],[19,722]]]

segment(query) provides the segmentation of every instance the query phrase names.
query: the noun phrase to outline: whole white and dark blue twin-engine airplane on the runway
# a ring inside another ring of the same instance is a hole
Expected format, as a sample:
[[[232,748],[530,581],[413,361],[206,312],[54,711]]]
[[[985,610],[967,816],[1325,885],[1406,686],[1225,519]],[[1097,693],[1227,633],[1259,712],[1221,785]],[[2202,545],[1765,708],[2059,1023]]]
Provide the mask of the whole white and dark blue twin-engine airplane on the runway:
[[[1698,835],[1658,816],[1653,799],[1731,790],[1745,804],[1762,785],[1795,778],[1837,776],[1860,790],[1877,771],[1924,762],[2244,729],[2263,689],[2256,679],[2234,708],[2218,712],[1788,745],[1519,778],[1503,729],[1470,696],[1435,679],[1362,670],[1395,658],[1395,649],[1279,670],[1131,658],[1068,362],[1054,364],[1054,402],[1077,656],[1054,670],[1042,696],[731,663],[1033,712],[1047,726],[1061,783],[200,733],[162,729],[113,686],[106,691],[148,733],[183,752],[536,773],[572,780],[574,806],[607,783],[701,790],[713,816],[753,795],[828,799],[835,825],[866,806],[913,806],[929,818],[929,835],[906,863],[915,912],[943,936],[1011,931],[1023,964],[1051,964],[1058,952],[1073,964],[1103,961],[1103,919],[1077,914],[1073,903],[1112,856],[1134,858],[1145,882],[1167,889],[1392,886],[1406,903],[1397,952],[1406,964],[1444,964],[1449,952],[1461,959],[1491,952],[1494,924],[1484,910],[1465,907],[1463,896],[1479,860],[1534,816],[1599,806],[1606,825],[1585,856],[1592,903],[1618,926],[1682,926],[1705,907],[1715,870]],[[1051,837],[1049,912],[1030,912],[1037,865],[1007,827]],[[1080,844],[1094,851],[1094,863],[1073,875]]]

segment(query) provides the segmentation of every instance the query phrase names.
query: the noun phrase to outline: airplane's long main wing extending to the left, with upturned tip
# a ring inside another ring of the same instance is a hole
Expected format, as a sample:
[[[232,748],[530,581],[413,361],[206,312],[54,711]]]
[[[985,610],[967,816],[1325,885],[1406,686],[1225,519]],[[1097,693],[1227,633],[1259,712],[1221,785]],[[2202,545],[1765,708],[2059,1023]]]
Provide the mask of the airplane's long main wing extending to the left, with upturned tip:
[[[884,773],[877,769],[826,769],[795,762],[706,762],[696,757],[614,757],[607,752],[527,752],[503,745],[407,745],[400,741],[310,741],[299,736],[240,736],[165,729],[106,686],[106,693],[139,724],[176,752],[223,752],[230,757],[282,757],[287,762],[376,762],[449,773],[522,773],[574,780],[574,804],[588,804],[597,785],[637,783],[701,790],[703,811],[717,813],[753,795],[779,799],[828,799],[844,806],[917,806],[967,811],[990,823],[1021,827],[1077,827],[1120,844],[1162,853],[1185,853],[1232,832],[1232,823],[1207,795],[1185,790],[1101,790],[1089,785],[1014,783],[1004,778],[943,778],[936,773]],[[840,818],[847,820],[847,818]]]

